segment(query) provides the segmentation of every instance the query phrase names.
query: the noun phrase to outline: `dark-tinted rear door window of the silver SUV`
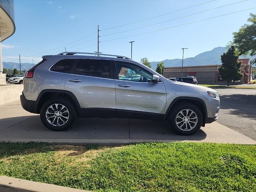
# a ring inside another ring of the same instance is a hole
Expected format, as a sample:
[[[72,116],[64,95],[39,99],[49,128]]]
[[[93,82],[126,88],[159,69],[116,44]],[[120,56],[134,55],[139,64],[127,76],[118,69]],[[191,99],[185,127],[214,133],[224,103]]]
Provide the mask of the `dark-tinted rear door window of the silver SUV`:
[[[110,62],[108,60],[79,59],[76,64],[76,74],[110,78]]]

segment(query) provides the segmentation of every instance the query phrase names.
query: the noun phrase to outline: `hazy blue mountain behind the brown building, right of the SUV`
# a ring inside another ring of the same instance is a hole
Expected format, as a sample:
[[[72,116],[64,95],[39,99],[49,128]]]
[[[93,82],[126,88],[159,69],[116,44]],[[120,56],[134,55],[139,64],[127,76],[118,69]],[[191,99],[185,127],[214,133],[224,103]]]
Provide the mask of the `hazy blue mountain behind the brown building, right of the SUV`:
[[[202,66],[202,65],[219,65],[221,64],[220,56],[226,52],[226,47],[216,47],[213,50],[198,54],[195,57],[185,58],[183,66]],[[251,58],[251,56],[240,56],[239,58]],[[153,69],[160,62],[164,63],[165,67],[181,67],[182,59],[166,59],[158,62],[150,62]]]

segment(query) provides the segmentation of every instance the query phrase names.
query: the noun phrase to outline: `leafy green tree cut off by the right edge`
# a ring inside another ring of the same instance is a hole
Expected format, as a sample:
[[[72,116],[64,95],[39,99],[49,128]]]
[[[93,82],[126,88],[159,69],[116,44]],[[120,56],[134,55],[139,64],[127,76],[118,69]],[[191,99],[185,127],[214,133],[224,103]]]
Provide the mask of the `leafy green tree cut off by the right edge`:
[[[238,32],[234,32],[234,45],[239,52],[239,55],[250,56],[256,55],[256,14],[250,13],[250,17],[247,20],[252,24],[244,24]],[[253,60],[256,64],[256,59]]]

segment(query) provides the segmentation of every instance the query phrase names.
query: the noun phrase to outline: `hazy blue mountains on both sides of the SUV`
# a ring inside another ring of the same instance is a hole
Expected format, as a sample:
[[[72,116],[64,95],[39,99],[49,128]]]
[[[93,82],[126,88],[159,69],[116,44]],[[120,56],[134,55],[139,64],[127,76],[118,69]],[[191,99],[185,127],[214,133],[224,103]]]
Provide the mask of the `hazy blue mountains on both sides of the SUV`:
[[[183,66],[201,66],[201,65],[218,65],[221,64],[220,56],[226,52],[226,47],[216,47],[213,50],[206,51],[198,54],[195,57],[185,58],[183,60]],[[252,58],[251,56],[240,56],[239,58]],[[182,59],[166,59],[158,62],[150,62],[153,69],[156,69],[156,65],[160,62],[164,63],[165,67],[177,67],[182,66]],[[20,69],[19,63],[3,62],[3,68],[7,69]],[[21,70],[28,70],[32,68],[31,63],[22,63]]]

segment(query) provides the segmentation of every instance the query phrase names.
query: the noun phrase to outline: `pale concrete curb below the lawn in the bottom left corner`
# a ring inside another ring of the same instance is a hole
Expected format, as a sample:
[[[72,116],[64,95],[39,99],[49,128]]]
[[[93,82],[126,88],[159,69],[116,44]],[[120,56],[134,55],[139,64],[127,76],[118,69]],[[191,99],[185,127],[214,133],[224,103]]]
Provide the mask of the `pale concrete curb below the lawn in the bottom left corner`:
[[[89,192],[58,185],[0,176],[0,192]]]

